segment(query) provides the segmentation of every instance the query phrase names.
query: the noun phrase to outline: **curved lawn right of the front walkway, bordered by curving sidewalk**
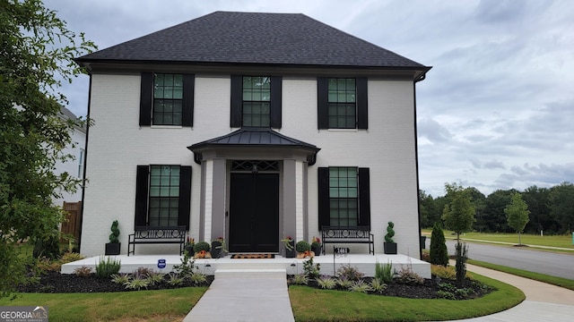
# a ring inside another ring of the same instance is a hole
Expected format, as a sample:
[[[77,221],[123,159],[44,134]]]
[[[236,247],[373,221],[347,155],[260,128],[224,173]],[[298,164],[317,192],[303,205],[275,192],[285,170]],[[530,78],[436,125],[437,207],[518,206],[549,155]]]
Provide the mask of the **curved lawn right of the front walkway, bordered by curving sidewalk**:
[[[488,277],[474,278],[496,288],[480,299],[466,301],[414,300],[357,292],[290,286],[296,321],[445,321],[500,312],[524,301],[522,291]]]

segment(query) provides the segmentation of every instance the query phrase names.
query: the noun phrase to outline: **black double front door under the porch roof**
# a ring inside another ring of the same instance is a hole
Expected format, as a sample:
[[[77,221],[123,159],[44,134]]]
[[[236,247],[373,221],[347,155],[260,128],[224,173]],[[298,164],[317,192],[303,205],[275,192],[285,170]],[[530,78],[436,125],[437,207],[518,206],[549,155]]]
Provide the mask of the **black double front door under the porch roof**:
[[[229,250],[279,250],[279,174],[231,174]]]

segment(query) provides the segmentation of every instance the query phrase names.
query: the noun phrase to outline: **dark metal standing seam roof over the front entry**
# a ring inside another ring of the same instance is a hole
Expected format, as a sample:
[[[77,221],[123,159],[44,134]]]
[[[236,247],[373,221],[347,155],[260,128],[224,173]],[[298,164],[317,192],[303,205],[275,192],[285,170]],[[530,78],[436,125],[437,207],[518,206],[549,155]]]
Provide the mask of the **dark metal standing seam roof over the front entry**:
[[[251,127],[244,127],[218,138],[204,140],[187,148],[194,153],[196,164],[201,165],[200,150],[222,147],[300,148],[309,152],[307,157],[309,165],[315,165],[317,152],[320,150],[317,146],[290,138],[270,128]]]

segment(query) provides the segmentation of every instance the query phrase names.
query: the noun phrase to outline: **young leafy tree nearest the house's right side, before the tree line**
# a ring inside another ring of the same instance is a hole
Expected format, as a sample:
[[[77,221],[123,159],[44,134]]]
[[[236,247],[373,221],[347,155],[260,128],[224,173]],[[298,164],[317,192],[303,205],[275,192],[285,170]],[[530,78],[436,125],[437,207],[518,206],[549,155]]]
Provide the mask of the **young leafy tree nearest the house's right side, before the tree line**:
[[[445,205],[442,219],[447,229],[457,233],[457,242],[460,242],[460,234],[470,232],[475,221],[470,191],[457,183],[445,183],[445,191],[450,197],[450,202]]]

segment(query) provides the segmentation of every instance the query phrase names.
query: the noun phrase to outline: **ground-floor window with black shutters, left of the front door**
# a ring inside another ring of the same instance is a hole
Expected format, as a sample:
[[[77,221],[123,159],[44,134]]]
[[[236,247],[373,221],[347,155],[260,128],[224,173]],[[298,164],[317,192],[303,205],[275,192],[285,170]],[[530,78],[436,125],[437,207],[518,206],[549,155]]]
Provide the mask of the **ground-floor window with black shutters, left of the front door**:
[[[135,226],[189,228],[191,166],[138,165]]]

